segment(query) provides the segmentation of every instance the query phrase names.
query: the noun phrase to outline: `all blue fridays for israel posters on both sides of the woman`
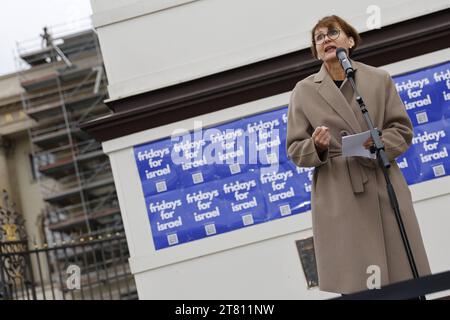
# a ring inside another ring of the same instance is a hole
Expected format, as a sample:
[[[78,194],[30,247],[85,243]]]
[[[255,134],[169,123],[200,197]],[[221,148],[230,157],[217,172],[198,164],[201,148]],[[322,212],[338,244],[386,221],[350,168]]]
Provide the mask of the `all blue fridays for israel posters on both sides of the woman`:
[[[450,172],[450,63],[394,77],[414,125],[409,185]],[[311,209],[313,168],[286,155],[287,106],[134,147],[156,250]]]

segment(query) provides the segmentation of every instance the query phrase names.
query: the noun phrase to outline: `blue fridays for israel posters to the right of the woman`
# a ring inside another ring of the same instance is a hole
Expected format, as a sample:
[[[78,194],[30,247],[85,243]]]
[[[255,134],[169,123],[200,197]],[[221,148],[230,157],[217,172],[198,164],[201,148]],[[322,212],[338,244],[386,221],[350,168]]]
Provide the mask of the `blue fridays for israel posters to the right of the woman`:
[[[450,63],[394,77],[414,126],[411,147],[397,158],[408,184],[449,174]]]

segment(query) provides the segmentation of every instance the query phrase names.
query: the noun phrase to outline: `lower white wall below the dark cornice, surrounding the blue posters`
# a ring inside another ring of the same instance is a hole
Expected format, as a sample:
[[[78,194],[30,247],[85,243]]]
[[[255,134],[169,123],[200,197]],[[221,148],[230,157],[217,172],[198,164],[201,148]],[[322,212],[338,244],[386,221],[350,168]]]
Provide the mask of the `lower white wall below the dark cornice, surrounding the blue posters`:
[[[450,49],[384,66],[392,75],[446,61]],[[141,299],[325,299],[308,290],[295,241],[312,235],[311,213],[235,230],[155,251],[133,145],[231,121],[288,103],[284,93],[107,141],[130,247],[130,265]],[[220,119],[218,122],[217,119]],[[450,270],[450,176],[411,186],[413,202],[433,273]],[[442,296],[444,293],[433,297]],[[447,293],[448,294],[448,293]]]

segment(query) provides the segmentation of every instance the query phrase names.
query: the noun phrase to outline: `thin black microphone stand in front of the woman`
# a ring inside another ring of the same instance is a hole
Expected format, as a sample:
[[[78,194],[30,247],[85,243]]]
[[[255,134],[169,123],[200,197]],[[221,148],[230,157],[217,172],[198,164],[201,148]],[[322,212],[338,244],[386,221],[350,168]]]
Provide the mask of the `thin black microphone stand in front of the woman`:
[[[347,70],[345,70],[345,71],[347,71]],[[372,122],[372,119],[370,118],[369,112],[367,111],[366,105],[364,104],[364,101],[361,98],[361,96],[359,95],[358,89],[356,88],[355,80],[353,79],[353,72],[347,71],[345,73],[346,73],[347,79],[350,81],[350,83],[353,87],[353,90],[356,94],[356,101],[358,102],[359,108],[361,109],[364,119],[366,120],[367,125],[369,127],[370,136],[372,137],[372,140],[374,142],[374,145],[370,148],[370,152],[376,154],[377,160],[378,160],[378,165],[380,166],[381,170],[383,171],[384,179],[386,180],[387,193],[389,195],[389,200],[390,200],[392,209],[394,210],[398,227],[400,229],[400,235],[402,237],[403,246],[405,247],[405,251],[408,256],[408,262],[411,267],[411,271],[412,271],[414,279],[417,279],[417,278],[419,278],[419,273],[417,272],[416,262],[414,260],[411,246],[409,244],[408,236],[406,234],[406,229],[403,224],[403,219],[400,215],[400,207],[398,205],[397,196],[395,194],[394,188],[391,183],[391,179],[389,177],[388,169],[391,167],[391,164],[389,163],[386,152],[384,151],[384,144],[380,139],[381,132],[373,127],[373,122]],[[425,298],[425,296],[420,296],[419,300],[426,300],[426,298]]]

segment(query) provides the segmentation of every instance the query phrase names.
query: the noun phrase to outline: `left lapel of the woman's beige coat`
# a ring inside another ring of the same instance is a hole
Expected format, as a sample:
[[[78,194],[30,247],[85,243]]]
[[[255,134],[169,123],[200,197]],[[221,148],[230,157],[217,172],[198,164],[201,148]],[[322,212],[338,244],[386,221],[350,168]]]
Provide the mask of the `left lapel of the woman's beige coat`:
[[[356,69],[356,68],[355,68]],[[334,84],[325,64],[322,63],[320,71],[314,76],[314,82],[319,83],[318,93],[327,101],[327,103],[341,116],[341,118],[348,124],[348,126],[353,130],[353,133],[361,132],[361,126],[356,119],[356,115],[353,112],[352,107],[347,102],[343,93]],[[346,79],[342,84],[344,86],[350,86]]]

